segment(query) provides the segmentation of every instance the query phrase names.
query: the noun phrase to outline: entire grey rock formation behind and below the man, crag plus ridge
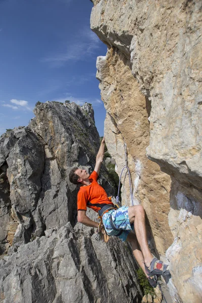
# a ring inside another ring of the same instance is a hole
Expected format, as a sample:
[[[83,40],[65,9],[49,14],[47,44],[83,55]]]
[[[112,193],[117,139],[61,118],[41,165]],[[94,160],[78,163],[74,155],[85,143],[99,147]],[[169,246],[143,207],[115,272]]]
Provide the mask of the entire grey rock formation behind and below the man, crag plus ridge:
[[[0,302],[139,302],[130,246],[97,242],[94,229],[76,220],[69,171],[94,168],[92,107],[47,102],[34,113],[28,127],[0,139]],[[115,194],[105,165],[98,182]]]

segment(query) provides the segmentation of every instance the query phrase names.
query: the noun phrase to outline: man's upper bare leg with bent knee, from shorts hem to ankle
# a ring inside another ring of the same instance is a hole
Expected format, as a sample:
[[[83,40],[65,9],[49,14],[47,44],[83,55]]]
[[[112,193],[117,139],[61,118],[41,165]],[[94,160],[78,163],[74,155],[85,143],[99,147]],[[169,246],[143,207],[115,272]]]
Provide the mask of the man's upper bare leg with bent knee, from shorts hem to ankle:
[[[141,205],[130,206],[128,208],[128,216],[130,223],[134,223],[135,234],[143,255],[142,262],[145,263],[148,267],[154,257],[151,255],[148,247],[145,225],[145,212],[143,207]]]

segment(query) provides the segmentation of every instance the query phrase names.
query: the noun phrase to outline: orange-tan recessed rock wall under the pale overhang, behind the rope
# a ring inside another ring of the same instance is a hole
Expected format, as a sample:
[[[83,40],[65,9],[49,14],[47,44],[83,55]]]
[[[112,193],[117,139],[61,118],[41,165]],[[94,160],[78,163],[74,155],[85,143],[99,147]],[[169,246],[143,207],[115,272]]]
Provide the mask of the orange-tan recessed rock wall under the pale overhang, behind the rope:
[[[125,166],[124,142],[127,143],[133,202],[139,204],[141,201],[144,206],[151,224],[149,239],[153,241],[155,238],[157,251],[162,255],[173,242],[168,225],[170,177],[146,158],[145,148],[149,144],[148,102],[139,91],[128,65],[128,60],[113,48],[106,58],[97,60],[96,76],[100,80],[99,88],[107,110],[106,143],[116,159],[119,175]],[[122,183],[122,204],[130,206],[127,170],[122,175]]]

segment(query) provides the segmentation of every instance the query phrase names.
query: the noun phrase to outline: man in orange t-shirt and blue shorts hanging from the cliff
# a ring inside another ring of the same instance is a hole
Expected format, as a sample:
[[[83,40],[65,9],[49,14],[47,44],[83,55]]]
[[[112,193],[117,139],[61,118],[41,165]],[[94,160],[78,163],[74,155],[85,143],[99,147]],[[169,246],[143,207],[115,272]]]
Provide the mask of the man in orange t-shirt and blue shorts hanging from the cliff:
[[[77,196],[78,222],[97,228],[98,223],[86,216],[87,207],[102,216],[103,224],[109,235],[118,236],[132,245],[133,255],[148,278],[149,284],[157,286],[158,275],[166,282],[170,278],[168,266],[154,258],[147,243],[145,212],[141,205],[121,207],[116,210],[104,188],[97,183],[100,166],[104,158],[105,137],[97,156],[94,171],[89,175],[85,169],[74,168],[69,174],[70,182],[81,184]],[[133,228],[135,233],[133,233]]]

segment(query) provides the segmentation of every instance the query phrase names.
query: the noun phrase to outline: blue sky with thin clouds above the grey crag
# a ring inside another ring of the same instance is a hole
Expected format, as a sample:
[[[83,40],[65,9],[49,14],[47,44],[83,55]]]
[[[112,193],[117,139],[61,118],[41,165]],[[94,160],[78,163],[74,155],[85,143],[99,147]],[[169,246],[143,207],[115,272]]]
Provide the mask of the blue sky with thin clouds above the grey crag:
[[[107,46],[90,30],[89,0],[0,0],[0,135],[26,126],[35,103],[93,105],[100,136],[106,111],[96,57]]]

